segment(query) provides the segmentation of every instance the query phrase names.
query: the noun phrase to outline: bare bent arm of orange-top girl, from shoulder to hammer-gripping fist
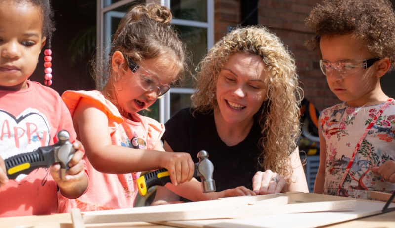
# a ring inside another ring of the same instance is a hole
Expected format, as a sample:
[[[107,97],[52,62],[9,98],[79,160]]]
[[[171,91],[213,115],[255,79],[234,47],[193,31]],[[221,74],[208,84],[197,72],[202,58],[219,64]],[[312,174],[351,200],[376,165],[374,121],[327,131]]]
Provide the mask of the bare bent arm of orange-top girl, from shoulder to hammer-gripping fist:
[[[99,172],[125,174],[166,168],[174,185],[191,180],[194,163],[187,153],[168,153],[113,145],[108,118],[98,101],[82,98],[73,114],[77,138]]]

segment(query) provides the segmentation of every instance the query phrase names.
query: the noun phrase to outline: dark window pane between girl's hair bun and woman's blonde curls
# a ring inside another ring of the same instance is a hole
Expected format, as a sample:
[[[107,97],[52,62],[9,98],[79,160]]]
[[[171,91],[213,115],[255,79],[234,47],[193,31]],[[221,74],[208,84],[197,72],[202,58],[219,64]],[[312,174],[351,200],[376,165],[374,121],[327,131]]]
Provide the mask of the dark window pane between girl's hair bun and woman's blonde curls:
[[[193,52],[192,74],[195,74],[195,67],[207,54],[207,29],[192,26],[174,25],[180,34],[180,39],[185,42],[190,51]],[[183,87],[192,88],[192,78],[189,78]]]

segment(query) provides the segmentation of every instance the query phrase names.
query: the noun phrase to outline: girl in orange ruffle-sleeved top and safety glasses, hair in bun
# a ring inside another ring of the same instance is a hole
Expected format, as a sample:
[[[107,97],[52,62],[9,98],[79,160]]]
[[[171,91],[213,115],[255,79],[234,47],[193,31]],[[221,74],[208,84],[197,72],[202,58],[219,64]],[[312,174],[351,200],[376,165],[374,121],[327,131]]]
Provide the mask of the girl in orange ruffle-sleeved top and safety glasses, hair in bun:
[[[187,72],[185,45],[170,27],[171,17],[168,8],[157,4],[131,9],[114,35],[105,71],[100,72],[107,76],[104,88],[63,94],[77,138],[85,146],[90,186],[79,199],[61,197],[59,212],[72,207],[82,211],[133,207],[140,171],[159,168],[168,169],[170,190],[193,201],[255,195],[245,187],[203,194],[200,183],[192,179],[190,155],[164,152],[159,142],[164,125],[137,114]]]

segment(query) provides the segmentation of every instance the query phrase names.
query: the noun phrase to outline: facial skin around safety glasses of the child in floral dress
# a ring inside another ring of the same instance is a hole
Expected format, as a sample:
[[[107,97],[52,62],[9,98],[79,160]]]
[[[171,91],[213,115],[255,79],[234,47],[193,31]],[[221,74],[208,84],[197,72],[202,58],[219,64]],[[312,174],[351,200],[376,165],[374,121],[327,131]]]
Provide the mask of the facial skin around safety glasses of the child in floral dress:
[[[375,58],[364,48],[362,40],[352,34],[323,36],[320,41],[322,59],[329,62],[358,61]],[[351,107],[383,103],[388,99],[380,87],[382,77],[390,67],[388,58],[381,59],[366,70],[342,77],[336,70],[326,77],[332,92]]]

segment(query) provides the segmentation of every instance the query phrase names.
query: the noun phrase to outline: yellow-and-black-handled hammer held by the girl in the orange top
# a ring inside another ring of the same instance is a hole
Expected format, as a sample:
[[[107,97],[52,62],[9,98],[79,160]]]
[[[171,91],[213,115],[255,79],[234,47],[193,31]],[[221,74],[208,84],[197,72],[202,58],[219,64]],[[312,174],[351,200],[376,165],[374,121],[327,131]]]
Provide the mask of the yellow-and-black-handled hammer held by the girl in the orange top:
[[[199,162],[195,163],[194,177],[201,178],[201,190],[203,193],[213,192],[216,190],[215,181],[213,180],[214,165],[208,160],[208,153],[205,150],[197,154]],[[141,196],[147,193],[147,189],[153,186],[164,186],[170,183],[169,171],[159,169],[141,176],[137,179],[137,186]]]

